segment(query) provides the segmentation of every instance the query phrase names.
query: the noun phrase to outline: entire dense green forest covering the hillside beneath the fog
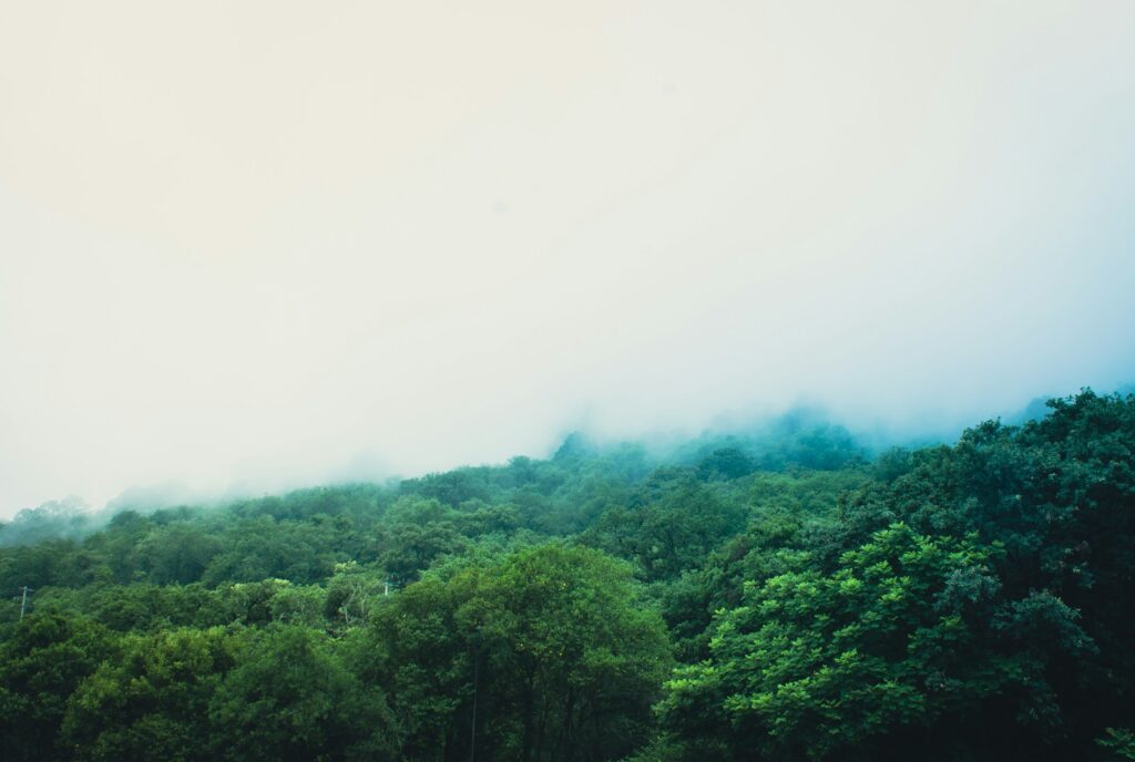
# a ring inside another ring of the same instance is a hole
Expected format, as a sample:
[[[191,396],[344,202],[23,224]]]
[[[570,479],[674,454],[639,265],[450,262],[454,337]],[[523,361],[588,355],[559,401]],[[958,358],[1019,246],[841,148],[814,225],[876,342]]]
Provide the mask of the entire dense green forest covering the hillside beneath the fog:
[[[1133,396],[874,457],[804,420],[572,437],[5,541],[14,762],[1135,759]]]

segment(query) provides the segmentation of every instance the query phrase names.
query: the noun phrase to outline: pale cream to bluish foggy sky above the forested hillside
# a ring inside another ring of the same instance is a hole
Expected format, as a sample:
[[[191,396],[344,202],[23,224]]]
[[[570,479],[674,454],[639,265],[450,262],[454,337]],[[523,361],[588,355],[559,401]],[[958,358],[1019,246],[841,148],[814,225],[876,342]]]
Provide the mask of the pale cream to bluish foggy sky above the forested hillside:
[[[0,19],[0,517],[1135,380],[1135,3]]]

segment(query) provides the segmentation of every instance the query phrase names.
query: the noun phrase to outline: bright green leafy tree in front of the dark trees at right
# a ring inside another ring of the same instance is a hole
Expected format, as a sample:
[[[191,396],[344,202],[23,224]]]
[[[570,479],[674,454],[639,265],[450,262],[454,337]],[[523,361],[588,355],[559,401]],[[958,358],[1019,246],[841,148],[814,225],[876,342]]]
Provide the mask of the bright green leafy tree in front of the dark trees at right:
[[[1033,687],[1036,664],[985,640],[999,583],[972,540],[877,532],[834,574],[796,568],[747,587],[708,661],[666,684],[664,723],[737,759],[935,759],[982,700]]]

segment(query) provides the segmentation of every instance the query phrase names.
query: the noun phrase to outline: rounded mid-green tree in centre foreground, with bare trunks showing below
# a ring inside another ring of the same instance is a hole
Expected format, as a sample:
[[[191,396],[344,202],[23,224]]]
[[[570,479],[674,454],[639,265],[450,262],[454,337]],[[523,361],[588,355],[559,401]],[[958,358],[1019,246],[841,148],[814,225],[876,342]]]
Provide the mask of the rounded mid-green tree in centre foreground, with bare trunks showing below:
[[[372,638],[365,669],[390,686],[410,759],[472,743],[481,759],[619,759],[647,737],[669,663],[629,569],[561,544],[427,576]]]

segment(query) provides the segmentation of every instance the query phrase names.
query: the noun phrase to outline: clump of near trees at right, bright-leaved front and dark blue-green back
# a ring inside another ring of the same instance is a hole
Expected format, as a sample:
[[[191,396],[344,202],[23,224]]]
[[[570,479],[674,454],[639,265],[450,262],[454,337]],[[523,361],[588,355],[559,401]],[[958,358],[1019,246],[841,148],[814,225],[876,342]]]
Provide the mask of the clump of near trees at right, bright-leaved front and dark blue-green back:
[[[726,559],[745,593],[664,725],[737,756],[1086,756],[1135,710],[1135,398],[1051,407],[890,454],[834,524]]]

